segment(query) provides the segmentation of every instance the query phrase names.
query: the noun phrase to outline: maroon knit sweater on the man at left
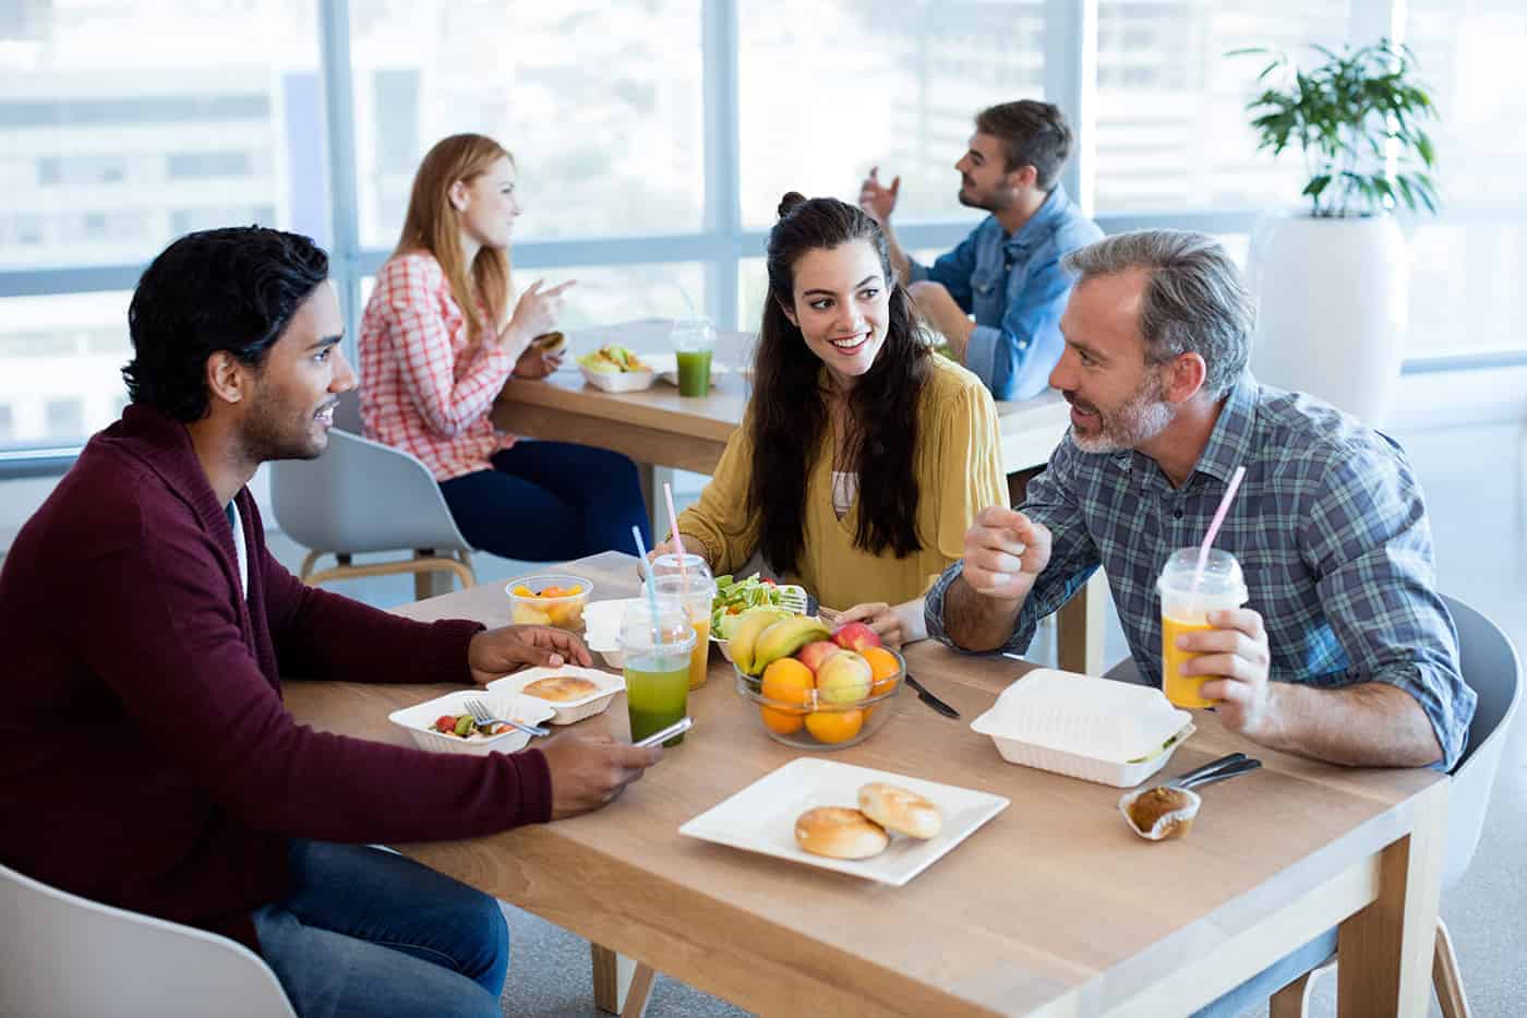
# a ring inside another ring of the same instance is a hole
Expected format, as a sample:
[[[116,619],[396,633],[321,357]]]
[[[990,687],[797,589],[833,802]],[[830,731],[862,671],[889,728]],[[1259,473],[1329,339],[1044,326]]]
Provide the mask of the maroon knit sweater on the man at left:
[[[472,683],[475,622],[313,590],[234,533],[185,426],[144,407],[90,440],[0,570],[0,862],[258,946],[289,838],[466,838],[551,815],[541,751],[454,757],[319,734],[279,676]]]

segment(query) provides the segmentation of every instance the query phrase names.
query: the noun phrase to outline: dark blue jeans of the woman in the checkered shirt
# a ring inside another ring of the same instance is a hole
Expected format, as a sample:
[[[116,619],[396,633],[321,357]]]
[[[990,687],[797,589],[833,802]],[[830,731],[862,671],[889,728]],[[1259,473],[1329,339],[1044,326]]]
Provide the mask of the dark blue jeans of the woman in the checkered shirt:
[[[554,562],[599,552],[637,553],[631,527],[652,547],[637,465],[618,452],[521,439],[493,469],[440,483],[472,547]]]

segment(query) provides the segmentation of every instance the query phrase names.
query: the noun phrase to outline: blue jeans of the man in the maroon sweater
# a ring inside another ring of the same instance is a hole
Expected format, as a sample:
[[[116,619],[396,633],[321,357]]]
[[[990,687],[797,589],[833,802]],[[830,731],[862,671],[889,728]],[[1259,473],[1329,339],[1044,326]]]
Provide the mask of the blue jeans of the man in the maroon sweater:
[[[366,845],[293,841],[293,891],[252,913],[301,1018],[502,1018],[508,925],[487,894]]]

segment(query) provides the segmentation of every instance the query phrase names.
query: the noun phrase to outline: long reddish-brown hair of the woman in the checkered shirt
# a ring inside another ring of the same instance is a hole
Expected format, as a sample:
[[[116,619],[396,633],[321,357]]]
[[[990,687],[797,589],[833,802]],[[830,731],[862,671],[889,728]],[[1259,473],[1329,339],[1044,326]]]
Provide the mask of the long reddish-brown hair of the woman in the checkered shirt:
[[[414,174],[403,235],[392,252],[428,251],[435,255],[450,284],[450,297],[472,324],[467,335],[473,344],[504,326],[508,310],[508,251],[484,245],[472,264],[466,264],[461,216],[450,203],[450,185],[457,180],[470,183],[499,159],[515,162],[507,148],[483,135],[452,135],[435,142]],[[478,307],[487,312],[486,321]]]

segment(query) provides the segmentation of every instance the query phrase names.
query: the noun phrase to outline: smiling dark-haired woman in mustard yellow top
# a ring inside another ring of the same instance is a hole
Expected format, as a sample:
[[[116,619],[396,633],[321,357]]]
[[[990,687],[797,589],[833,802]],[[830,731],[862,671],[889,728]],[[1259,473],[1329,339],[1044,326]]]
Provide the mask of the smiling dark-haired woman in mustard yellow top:
[[[924,592],[976,512],[1008,501],[997,410],[918,338],[875,220],[796,193],[779,217],[753,400],[678,518],[684,550],[716,573],[762,552],[843,621],[921,639]]]

